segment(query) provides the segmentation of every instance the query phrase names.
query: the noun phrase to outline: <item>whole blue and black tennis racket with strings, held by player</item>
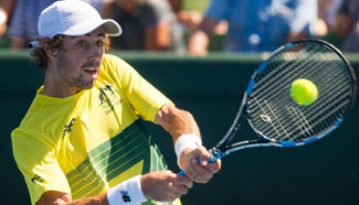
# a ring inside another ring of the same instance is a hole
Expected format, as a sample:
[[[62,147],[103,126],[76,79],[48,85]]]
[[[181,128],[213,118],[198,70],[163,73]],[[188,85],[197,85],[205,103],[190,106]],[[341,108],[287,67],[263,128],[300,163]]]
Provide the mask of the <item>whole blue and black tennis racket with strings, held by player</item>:
[[[292,98],[291,86],[298,78],[317,86],[318,98],[309,106]],[[317,141],[341,125],[355,98],[355,72],[338,48],[319,40],[285,44],[252,75],[241,108],[228,133],[210,150],[209,162],[246,148],[293,148]],[[232,142],[244,118],[257,137]]]

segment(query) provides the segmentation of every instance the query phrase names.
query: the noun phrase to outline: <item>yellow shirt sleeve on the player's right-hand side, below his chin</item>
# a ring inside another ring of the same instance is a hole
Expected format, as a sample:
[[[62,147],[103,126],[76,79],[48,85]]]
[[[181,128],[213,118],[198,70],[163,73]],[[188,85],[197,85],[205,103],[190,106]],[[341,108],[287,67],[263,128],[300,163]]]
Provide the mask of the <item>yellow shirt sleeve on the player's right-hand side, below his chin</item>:
[[[115,72],[119,89],[126,96],[136,114],[142,119],[155,122],[155,117],[158,110],[167,105],[172,104],[162,93],[155,88],[144,77],[141,77],[129,64],[125,61],[107,55],[107,64]]]

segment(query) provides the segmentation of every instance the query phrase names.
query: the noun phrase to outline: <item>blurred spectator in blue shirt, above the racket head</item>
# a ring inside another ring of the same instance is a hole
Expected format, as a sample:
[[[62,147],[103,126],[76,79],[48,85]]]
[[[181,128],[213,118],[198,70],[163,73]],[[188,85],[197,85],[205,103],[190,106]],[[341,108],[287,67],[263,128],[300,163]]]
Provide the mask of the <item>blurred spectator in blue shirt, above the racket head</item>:
[[[224,50],[271,52],[287,41],[308,37],[317,21],[317,0],[212,0],[189,39],[189,53],[205,55],[214,26],[229,23]]]

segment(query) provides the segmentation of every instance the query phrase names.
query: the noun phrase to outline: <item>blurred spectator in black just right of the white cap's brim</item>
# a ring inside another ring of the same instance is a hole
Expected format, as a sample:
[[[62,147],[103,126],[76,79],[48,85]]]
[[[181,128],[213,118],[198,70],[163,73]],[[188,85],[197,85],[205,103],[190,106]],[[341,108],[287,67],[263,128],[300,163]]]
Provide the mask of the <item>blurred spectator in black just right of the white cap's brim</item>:
[[[124,28],[122,36],[113,39],[113,48],[186,51],[182,29],[167,0],[115,0],[105,4],[103,18]]]

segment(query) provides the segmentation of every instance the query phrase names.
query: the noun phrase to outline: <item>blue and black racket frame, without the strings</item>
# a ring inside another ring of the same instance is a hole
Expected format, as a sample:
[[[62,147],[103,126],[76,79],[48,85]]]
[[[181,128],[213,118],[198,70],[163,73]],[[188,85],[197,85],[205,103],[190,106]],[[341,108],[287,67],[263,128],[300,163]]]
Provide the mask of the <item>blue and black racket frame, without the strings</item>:
[[[350,102],[348,104],[349,107],[346,109],[345,114],[341,116],[341,118],[339,118],[336,122],[335,126],[330,127],[328,130],[325,130],[324,132],[320,132],[316,136],[313,136],[310,138],[308,138],[307,140],[304,140],[303,142],[293,142],[293,141],[272,141],[270,140],[266,136],[264,136],[263,133],[261,133],[257,129],[255,129],[255,127],[253,126],[250,117],[249,117],[249,110],[247,110],[247,96],[251,95],[252,90],[253,90],[253,86],[255,84],[254,78],[261,74],[263,72],[263,69],[266,67],[266,65],[268,64],[268,62],[276,56],[278,53],[284,52],[297,44],[300,43],[319,43],[323,44],[325,46],[327,46],[329,50],[334,51],[346,64],[346,66],[348,67],[348,72],[351,76],[351,87],[352,87],[352,95],[351,95],[351,99]],[[344,118],[348,115],[349,110],[352,109],[353,105],[355,105],[355,100],[356,100],[356,95],[357,95],[357,90],[356,90],[356,85],[357,85],[357,79],[356,79],[356,75],[355,75],[355,71],[352,69],[352,67],[350,66],[349,62],[347,61],[347,58],[344,56],[344,54],[334,45],[331,45],[328,42],[325,42],[323,40],[313,40],[313,39],[307,39],[307,40],[300,40],[300,41],[295,41],[295,42],[291,42],[287,43],[285,45],[282,45],[281,47],[278,47],[277,50],[275,50],[265,61],[263,61],[260,66],[257,67],[257,69],[252,74],[250,83],[247,85],[247,88],[244,93],[244,96],[242,98],[242,102],[241,102],[241,107],[232,122],[232,126],[230,127],[229,131],[226,132],[226,134],[223,137],[223,139],[210,150],[211,153],[211,160],[210,161],[215,161],[218,159],[222,159],[223,157],[242,150],[242,149],[246,149],[246,148],[256,148],[256,147],[281,147],[281,148],[288,148],[288,147],[299,147],[299,145],[304,145],[304,144],[308,144],[310,142],[317,141],[318,139],[324,138],[325,136],[327,136],[328,133],[330,133],[331,131],[334,131],[336,128],[339,127],[339,125],[344,121]],[[249,125],[251,126],[251,128],[254,130],[254,132],[257,134],[258,139],[255,140],[244,140],[244,141],[239,141],[235,142],[233,144],[230,144],[230,142],[232,141],[232,139],[234,138],[235,133],[237,132],[237,130],[241,127],[241,121],[243,118],[247,119]]]

